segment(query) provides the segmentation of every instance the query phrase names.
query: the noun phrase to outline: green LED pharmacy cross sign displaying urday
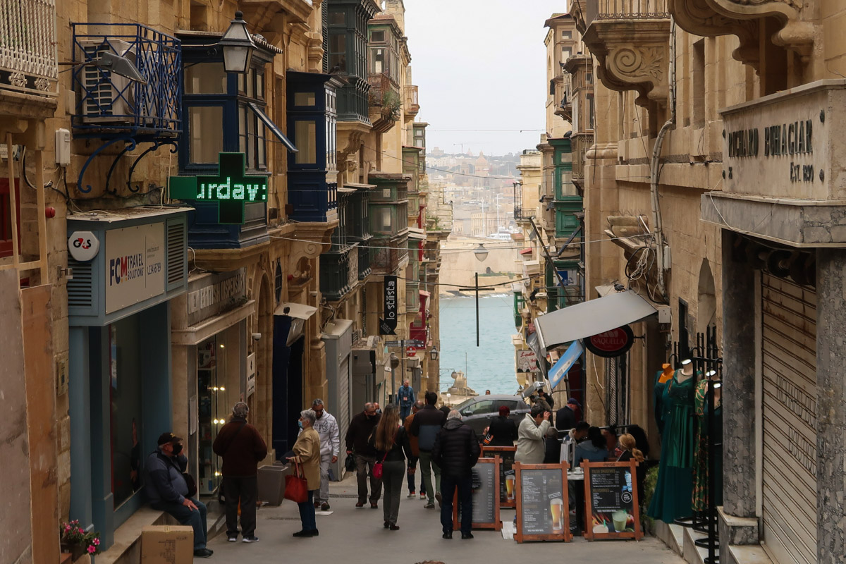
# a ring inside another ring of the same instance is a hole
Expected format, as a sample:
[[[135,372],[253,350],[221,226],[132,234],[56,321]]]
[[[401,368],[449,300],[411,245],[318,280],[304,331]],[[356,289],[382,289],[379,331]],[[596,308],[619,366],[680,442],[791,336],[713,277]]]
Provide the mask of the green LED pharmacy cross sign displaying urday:
[[[247,176],[244,153],[220,153],[217,176],[172,176],[170,197],[217,202],[217,222],[244,223],[245,202],[267,201],[267,178]]]

